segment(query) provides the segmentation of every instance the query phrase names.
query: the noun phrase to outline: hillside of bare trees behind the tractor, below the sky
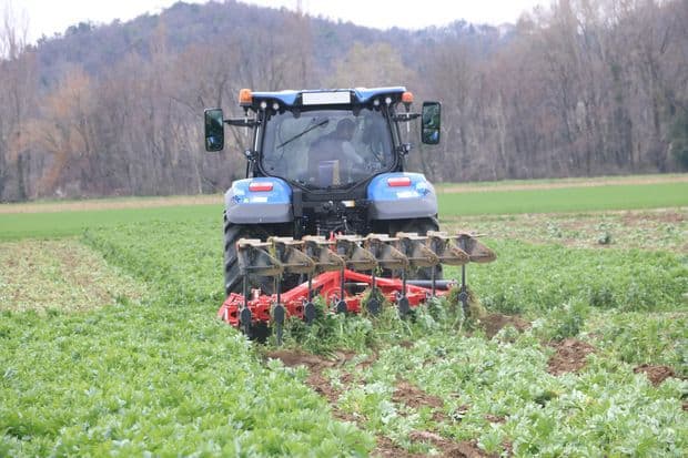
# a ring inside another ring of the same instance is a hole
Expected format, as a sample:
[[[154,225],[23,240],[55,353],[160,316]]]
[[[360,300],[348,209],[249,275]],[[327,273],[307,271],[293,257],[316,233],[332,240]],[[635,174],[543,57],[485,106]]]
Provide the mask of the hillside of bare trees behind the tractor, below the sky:
[[[28,45],[0,23],[0,201],[195,194],[244,173],[202,112],[241,88],[406,85],[441,100],[434,181],[688,169],[688,0],[560,0],[499,28],[380,31],[233,0],[80,23]]]

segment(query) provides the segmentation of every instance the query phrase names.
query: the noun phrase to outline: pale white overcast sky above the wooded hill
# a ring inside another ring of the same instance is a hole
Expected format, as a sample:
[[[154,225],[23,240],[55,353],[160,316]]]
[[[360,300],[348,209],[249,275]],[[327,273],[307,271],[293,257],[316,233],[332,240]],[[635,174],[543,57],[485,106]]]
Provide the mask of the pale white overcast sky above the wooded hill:
[[[128,21],[144,12],[158,13],[176,0],[0,0],[0,13],[11,6],[14,16],[26,18],[29,40],[52,37],[81,21],[109,23]],[[185,0],[204,3],[208,0]],[[244,0],[265,7],[296,9],[299,0]],[[549,0],[301,0],[304,12],[354,23],[389,29],[421,29],[458,19],[474,23],[515,22],[523,11]]]

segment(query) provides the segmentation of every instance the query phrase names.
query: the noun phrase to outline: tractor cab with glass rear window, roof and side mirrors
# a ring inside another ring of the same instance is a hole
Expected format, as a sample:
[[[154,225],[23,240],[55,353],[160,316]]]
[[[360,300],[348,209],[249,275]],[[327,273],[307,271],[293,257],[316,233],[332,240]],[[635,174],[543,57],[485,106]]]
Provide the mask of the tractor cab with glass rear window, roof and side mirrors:
[[[403,171],[411,144],[399,123],[422,116],[422,141],[439,142],[439,103],[424,103],[419,115],[411,113],[412,102],[405,88],[242,90],[244,118],[224,120],[220,109],[205,111],[205,146],[223,147],[222,123],[253,128],[247,177],[275,176],[304,191],[346,190]]]

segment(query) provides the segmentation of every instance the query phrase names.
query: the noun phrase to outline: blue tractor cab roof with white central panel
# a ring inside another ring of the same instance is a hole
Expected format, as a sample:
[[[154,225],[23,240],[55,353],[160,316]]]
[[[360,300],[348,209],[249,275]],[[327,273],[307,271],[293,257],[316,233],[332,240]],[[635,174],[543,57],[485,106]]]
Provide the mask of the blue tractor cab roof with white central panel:
[[[244,91],[247,91],[245,93]],[[317,90],[286,90],[274,92],[252,92],[242,89],[240,104],[257,109],[260,103],[279,102],[285,106],[303,105],[333,105],[333,104],[364,104],[375,98],[391,96],[393,102],[402,100],[406,92],[404,86],[394,88],[355,88],[355,89],[317,89]],[[245,94],[245,95],[244,95]],[[245,98],[244,98],[245,96]]]

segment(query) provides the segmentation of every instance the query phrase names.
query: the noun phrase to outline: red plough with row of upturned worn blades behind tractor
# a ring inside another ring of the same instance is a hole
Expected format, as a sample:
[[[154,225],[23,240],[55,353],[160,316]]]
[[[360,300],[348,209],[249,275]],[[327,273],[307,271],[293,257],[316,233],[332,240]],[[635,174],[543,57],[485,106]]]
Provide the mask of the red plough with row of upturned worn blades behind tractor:
[[[459,232],[368,234],[270,237],[266,242],[241,238],[236,243],[243,294],[231,293],[217,316],[240,328],[247,336],[257,324],[273,324],[277,344],[282,342],[287,316],[311,324],[316,308],[313,298],[320,295],[335,313],[360,313],[365,306],[373,315],[382,311],[384,301],[396,304],[404,317],[412,307],[434,296],[448,293],[455,281],[438,279],[437,266],[462,267],[458,301],[467,312],[466,264],[489,263],[495,253],[477,241],[477,235]],[[429,279],[409,279],[409,272],[429,269]],[[368,272],[370,274],[366,274]],[[380,276],[378,273],[385,273]],[[388,274],[391,273],[391,275]],[[301,275],[300,285],[282,292],[286,274]],[[392,277],[387,277],[392,276]],[[250,288],[252,277],[274,278],[275,293],[264,294]],[[364,305],[364,296],[367,301]]]

